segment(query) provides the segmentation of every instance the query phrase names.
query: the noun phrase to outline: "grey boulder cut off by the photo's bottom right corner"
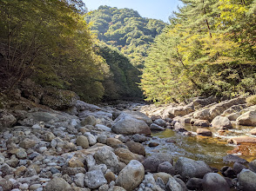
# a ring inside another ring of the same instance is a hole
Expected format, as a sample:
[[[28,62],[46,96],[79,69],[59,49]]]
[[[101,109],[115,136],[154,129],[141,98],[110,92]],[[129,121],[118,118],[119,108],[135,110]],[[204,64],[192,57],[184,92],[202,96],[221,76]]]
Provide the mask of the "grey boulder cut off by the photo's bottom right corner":
[[[239,175],[239,189],[243,191],[255,191],[256,190],[256,174],[251,170],[243,169]]]

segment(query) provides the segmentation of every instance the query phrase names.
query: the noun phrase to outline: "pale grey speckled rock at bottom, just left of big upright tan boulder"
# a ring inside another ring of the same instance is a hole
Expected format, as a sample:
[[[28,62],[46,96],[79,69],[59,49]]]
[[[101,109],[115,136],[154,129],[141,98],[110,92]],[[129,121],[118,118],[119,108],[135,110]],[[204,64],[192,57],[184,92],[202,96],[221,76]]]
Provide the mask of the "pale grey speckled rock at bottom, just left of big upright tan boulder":
[[[99,188],[101,185],[107,183],[101,170],[92,170],[85,173],[84,182],[91,189]]]

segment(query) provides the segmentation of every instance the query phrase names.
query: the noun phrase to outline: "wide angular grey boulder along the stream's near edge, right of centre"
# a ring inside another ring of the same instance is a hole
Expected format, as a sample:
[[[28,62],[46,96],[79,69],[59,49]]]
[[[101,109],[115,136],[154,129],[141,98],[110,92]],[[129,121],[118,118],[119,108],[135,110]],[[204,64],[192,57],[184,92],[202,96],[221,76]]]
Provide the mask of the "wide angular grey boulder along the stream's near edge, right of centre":
[[[205,161],[194,161],[185,157],[179,157],[174,167],[183,178],[203,178],[205,174],[212,172]]]

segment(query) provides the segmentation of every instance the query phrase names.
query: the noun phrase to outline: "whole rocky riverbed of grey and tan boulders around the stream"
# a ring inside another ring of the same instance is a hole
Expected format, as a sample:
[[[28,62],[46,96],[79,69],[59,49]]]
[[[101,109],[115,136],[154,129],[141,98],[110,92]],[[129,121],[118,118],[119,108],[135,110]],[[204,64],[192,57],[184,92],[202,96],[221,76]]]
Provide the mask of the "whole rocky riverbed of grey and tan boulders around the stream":
[[[256,190],[256,160],[225,155],[226,165],[214,168],[190,155],[161,152],[161,141],[152,137],[166,129],[183,137],[228,135],[235,124],[256,126],[255,110],[244,98],[198,98],[158,108],[72,100],[64,111],[2,109],[0,190]],[[225,142],[252,146],[254,135],[252,128]],[[165,142],[172,146],[177,140]]]

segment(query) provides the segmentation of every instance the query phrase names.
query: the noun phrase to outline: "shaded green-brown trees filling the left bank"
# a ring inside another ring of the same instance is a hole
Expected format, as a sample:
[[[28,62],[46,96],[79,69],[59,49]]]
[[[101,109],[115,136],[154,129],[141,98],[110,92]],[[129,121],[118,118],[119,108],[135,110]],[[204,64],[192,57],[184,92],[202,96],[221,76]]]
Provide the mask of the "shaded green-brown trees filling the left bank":
[[[0,2],[0,56],[10,90],[31,76],[87,102],[104,95],[106,64],[93,52],[85,11],[81,0]]]

